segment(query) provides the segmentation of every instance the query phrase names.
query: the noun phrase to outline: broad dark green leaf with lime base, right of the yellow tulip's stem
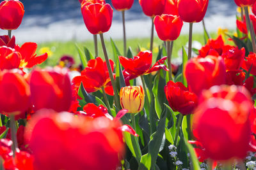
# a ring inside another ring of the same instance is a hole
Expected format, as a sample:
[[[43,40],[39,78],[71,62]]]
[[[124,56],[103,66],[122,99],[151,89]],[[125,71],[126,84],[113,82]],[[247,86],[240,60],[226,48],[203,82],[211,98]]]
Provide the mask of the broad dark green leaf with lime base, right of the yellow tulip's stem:
[[[161,119],[157,126],[157,131],[150,137],[150,142],[148,144],[148,153],[141,157],[141,161],[138,169],[155,169],[156,160],[159,150],[161,149],[163,136],[165,131],[165,121],[166,121],[166,108],[164,108],[161,114]]]

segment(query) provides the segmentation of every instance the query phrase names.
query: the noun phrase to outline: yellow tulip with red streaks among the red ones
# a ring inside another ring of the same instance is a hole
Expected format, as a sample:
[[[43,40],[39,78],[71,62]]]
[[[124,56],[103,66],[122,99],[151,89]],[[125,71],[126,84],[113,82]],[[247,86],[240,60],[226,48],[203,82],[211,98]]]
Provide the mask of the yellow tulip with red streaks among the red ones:
[[[138,113],[143,109],[145,93],[141,86],[122,87],[120,103],[129,113]]]

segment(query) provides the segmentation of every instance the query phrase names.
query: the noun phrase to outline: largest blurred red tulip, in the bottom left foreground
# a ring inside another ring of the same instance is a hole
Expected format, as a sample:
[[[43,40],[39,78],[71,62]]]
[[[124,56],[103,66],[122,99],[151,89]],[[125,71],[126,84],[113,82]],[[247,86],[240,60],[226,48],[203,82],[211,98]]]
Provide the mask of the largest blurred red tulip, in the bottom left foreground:
[[[38,111],[26,131],[35,169],[116,169],[125,150],[120,127],[106,117]]]

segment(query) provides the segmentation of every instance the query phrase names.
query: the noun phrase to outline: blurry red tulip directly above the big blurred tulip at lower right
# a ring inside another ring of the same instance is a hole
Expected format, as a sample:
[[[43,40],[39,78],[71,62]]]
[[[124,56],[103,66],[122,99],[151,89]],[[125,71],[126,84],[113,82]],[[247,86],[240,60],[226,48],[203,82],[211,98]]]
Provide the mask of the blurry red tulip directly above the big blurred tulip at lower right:
[[[226,82],[226,69],[221,57],[208,55],[205,58],[190,59],[184,73],[189,87],[196,95],[200,95],[203,89]]]

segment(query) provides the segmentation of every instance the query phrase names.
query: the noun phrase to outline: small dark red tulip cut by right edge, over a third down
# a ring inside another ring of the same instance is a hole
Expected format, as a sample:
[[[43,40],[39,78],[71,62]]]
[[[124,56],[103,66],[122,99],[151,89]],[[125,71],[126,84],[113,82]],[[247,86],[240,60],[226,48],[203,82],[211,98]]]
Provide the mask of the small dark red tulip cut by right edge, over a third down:
[[[256,76],[256,54],[253,52],[250,52],[248,57],[244,58],[242,67],[246,71],[250,71],[250,74],[253,74]]]

